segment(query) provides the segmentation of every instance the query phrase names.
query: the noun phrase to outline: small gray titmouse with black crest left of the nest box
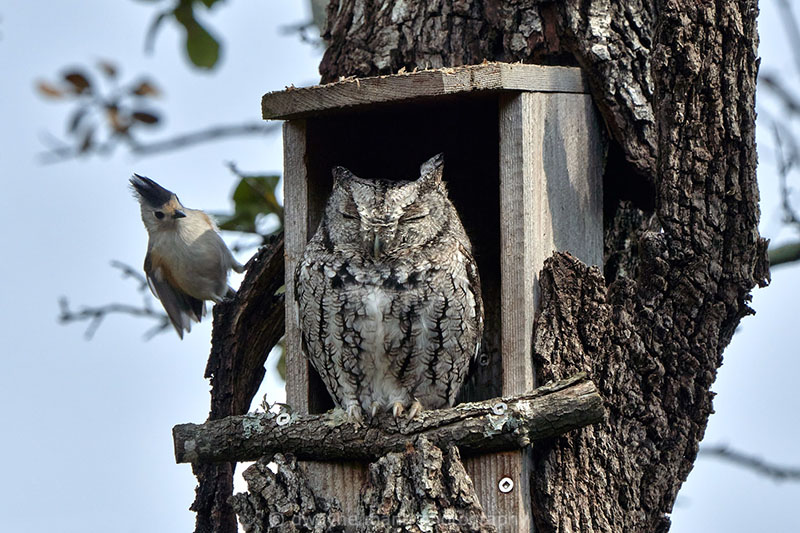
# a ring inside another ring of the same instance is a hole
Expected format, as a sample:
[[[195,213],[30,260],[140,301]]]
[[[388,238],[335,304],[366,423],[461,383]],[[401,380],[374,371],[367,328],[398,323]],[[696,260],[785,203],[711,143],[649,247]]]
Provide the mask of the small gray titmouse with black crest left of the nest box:
[[[130,182],[149,237],[147,283],[183,338],[192,321],[205,315],[205,300],[218,303],[236,294],[228,274],[231,269],[244,272],[244,267],[203,211],[184,207],[175,193],[145,176],[134,174]]]

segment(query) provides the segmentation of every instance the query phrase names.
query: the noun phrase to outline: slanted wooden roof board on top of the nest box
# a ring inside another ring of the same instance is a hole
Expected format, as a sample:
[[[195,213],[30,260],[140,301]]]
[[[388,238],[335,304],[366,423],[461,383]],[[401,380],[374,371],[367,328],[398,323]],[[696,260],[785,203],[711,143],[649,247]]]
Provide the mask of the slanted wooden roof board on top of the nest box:
[[[265,119],[319,116],[325,111],[485,91],[587,93],[579,68],[484,63],[372,78],[344,79],[265,94]]]

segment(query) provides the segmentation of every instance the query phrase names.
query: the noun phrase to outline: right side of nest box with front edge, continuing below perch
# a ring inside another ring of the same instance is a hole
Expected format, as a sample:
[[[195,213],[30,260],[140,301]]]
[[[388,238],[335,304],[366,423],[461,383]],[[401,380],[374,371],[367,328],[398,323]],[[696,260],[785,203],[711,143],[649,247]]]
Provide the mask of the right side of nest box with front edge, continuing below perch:
[[[588,264],[603,254],[603,146],[591,98],[509,93],[500,97],[501,347],[503,394],[535,386],[533,324],[539,272],[554,251]],[[528,450],[468,459],[475,487],[501,532],[532,530]],[[514,488],[498,490],[508,477]]]

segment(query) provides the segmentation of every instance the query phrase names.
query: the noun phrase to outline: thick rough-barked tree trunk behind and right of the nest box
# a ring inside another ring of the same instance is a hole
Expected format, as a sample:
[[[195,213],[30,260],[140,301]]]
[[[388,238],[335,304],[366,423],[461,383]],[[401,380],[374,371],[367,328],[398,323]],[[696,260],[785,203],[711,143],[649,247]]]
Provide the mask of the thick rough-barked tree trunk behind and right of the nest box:
[[[604,279],[551,258],[534,339],[539,381],[589,372],[609,417],[535,448],[538,531],[669,528],[722,350],[768,281],[757,11],[755,0],[331,2],[323,81],[484,59],[577,64],[611,133],[613,261]]]

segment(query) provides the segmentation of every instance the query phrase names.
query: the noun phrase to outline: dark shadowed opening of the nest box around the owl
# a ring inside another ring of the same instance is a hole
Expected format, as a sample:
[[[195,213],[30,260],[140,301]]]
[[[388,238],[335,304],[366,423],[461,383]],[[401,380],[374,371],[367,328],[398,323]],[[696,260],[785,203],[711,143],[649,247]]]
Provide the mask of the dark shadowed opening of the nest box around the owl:
[[[497,365],[489,364],[497,355],[499,332],[495,312],[500,297],[497,97],[452,96],[309,118],[306,135],[311,148],[306,154],[309,238],[331,191],[333,167],[343,166],[367,179],[413,180],[419,177],[420,164],[444,153],[444,181],[472,241],[481,275],[487,353],[476,365],[493,370],[497,378],[499,358]],[[325,412],[333,402],[313,368],[309,374],[311,412]],[[490,378],[470,380],[462,397],[480,400],[500,395],[500,380]]]

